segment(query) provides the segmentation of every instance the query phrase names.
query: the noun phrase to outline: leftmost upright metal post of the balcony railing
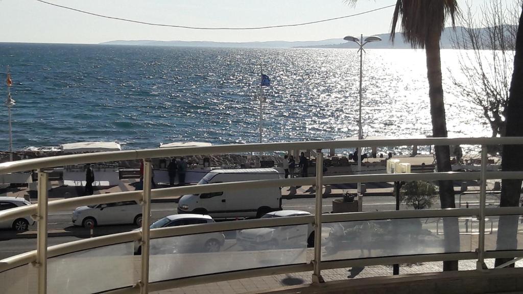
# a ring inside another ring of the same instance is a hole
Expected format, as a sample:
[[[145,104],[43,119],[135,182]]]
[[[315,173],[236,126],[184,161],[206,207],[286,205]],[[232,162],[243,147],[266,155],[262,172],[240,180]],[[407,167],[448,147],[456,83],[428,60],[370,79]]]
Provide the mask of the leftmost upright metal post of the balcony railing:
[[[38,294],[47,293],[47,182],[49,174],[38,171],[37,255]]]

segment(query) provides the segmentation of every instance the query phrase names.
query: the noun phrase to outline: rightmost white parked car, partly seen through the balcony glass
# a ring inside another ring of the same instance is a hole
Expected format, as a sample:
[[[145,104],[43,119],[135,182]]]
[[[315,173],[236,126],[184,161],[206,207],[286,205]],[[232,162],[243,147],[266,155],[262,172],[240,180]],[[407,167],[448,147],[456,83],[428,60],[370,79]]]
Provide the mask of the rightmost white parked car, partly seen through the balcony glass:
[[[265,214],[262,219],[310,216],[311,213],[301,210],[279,210]],[[308,246],[314,246],[314,228],[312,224],[307,225],[286,225],[282,227],[245,229],[238,232],[238,244],[247,250],[287,248],[299,246],[299,240],[307,240]]]

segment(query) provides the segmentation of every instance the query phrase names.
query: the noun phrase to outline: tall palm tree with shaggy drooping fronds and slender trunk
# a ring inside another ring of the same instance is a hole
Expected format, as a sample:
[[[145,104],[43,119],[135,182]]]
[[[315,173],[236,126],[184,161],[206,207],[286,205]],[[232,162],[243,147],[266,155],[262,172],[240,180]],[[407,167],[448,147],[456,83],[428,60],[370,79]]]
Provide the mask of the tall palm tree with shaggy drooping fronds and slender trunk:
[[[349,0],[356,3],[357,0]],[[391,40],[394,41],[397,22],[401,18],[403,37],[413,48],[425,49],[429,85],[430,117],[435,138],[447,137],[447,122],[441,82],[441,59],[439,41],[448,18],[454,26],[459,14],[456,0],[397,0],[392,17]],[[438,172],[450,172],[449,146],[436,146]],[[441,208],[456,208],[451,180],[439,181]],[[445,251],[459,252],[458,220],[444,219]],[[444,270],[458,270],[458,262],[444,262]]]

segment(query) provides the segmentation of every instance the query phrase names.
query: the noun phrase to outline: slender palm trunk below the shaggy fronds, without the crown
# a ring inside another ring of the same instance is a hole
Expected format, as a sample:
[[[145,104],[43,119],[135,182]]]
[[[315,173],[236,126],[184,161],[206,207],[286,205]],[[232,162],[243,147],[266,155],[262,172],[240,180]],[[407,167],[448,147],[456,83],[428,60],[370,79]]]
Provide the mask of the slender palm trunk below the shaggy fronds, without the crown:
[[[437,29],[431,30],[425,40],[425,53],[427,55],[427,78],[430,98],[430,117],[432,119],[432,133],[434,138],[447,137],[447,122],[445,118],[445,105],[443,100],[443,86],[441,82],[441,59],[439,52],[440,34]],[[435,146],[436,163],[438,172],[450,172],[449,146]],[[456,208],[454,201],[454,187],[451,180],[439,181],[439,199],[441,208]],[[460,251],[459,227],[457,218],[444,218],[445,252],[456,253]],[[443,270],[458,270],[458,261],[446,261]]]

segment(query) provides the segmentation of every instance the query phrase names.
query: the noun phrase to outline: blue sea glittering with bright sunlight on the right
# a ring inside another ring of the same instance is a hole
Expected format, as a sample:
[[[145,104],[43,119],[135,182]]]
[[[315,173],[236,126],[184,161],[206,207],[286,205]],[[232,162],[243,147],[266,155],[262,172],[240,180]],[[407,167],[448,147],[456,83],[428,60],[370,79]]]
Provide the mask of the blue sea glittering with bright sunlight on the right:
[[[490,136],[481,111],[452,86],[458,52],[442,50],[449,136]],[[118,141],[259,140],[260,64],[264,142],[357,136],[359,55],[351,49],[169,48],[0,43],[0,97],[13,79],[13,145]],[[365,135],[431,134],[425,52],[369,49],[363,64]],[[459,77],[459,75],[458,75]],[[8,149],[7,108],[0,150]]]

